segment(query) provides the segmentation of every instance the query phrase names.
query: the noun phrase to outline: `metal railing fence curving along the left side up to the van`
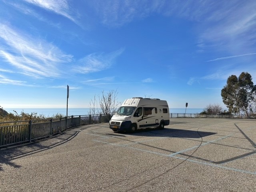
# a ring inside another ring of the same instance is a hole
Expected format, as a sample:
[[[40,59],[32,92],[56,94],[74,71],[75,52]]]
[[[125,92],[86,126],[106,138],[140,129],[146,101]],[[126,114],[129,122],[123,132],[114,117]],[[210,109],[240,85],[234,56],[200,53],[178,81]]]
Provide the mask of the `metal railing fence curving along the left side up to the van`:
[[[111,115],[83,115],[56,119],[0,122],[0,148],[47,138],[75,126],[109,122],[111,117]]]

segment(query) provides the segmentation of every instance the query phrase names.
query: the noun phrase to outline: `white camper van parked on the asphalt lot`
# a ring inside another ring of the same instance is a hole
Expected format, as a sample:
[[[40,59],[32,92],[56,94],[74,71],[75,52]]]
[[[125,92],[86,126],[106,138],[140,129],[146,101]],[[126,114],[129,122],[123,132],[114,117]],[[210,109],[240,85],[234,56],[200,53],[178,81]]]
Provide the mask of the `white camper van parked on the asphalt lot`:
[[[136,131],[137,129],[169,125],[169,107],[166,101],[133,97],[126,99],[112,116],[109,127],[114,131]]]

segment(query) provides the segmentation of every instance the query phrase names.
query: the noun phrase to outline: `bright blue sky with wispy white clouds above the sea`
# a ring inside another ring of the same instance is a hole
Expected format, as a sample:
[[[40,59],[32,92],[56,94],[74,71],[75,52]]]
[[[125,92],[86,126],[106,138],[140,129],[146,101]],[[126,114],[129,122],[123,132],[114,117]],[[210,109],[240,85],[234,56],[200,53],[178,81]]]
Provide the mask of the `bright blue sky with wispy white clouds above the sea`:
[[[117,90],[170,108],[225,107],[256,82],[255,0],[0,0],[0,106],[87,108]]]

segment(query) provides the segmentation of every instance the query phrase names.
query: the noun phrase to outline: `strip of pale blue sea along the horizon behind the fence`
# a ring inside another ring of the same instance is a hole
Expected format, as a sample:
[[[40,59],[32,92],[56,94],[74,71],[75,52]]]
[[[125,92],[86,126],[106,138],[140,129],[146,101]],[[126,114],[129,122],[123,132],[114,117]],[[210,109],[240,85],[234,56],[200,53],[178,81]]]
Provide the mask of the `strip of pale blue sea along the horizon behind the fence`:
[[[8,113],[20,114],[24,113],[37,113],[38,115],[43,115],[46,118],[52,117],[57,114],[66,116],[66,108],[4,108]],[[15,112],[14,112],[15,111]],[[170,108],[170,113],[186,113],[186,114],[196,114],[202,112],[202,108]],[[78,115],[88,115],[90,112],[89,108],[68,108],[68,116],[78,116]]]

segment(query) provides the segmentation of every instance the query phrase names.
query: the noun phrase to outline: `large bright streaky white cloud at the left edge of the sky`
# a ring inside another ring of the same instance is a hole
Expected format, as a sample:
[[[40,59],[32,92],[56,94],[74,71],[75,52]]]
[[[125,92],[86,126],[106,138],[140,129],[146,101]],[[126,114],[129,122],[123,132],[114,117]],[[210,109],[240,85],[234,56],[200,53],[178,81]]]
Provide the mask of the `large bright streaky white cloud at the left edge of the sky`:
[[[21,34],[24,33],[0,24],[0,58],[28,76],[59,77],[58,67],[70,62],[72,56],[42,39]]]

